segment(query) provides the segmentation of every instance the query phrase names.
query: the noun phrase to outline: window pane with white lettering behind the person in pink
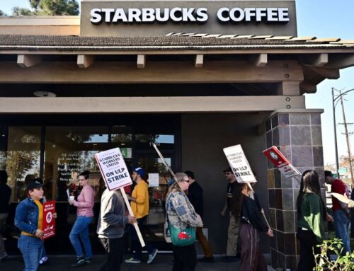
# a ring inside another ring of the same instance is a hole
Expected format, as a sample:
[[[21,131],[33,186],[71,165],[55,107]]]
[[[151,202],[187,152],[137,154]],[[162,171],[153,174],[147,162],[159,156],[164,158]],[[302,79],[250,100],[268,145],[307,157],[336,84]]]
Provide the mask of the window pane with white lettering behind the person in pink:
[[[51,198],[66,202],[79,195],[81,171],[90,171],[89,183],[101,197],[101,173],[94,155],[109,148],[108,127],[46,127],[45,180],[52,183]]]

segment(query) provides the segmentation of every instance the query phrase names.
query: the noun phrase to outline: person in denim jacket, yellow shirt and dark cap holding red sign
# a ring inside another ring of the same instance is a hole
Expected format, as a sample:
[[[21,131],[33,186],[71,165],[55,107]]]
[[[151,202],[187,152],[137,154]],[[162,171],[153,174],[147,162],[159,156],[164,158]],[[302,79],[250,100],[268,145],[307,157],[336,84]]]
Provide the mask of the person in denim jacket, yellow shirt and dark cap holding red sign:
[[[23,255],[25,271],[38,269],[42,257],[43,224],[43,183],[39,178],[31,180],[26,188],[28,197],[16,207],[15,226],[20,229],[18,248]],[[57,218],[57,214],[53,214]]]

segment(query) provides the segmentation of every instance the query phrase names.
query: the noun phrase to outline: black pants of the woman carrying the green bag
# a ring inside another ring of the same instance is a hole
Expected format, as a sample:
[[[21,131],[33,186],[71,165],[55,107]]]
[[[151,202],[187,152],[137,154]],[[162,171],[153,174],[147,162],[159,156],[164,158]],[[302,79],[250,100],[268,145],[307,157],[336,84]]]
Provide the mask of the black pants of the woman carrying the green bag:
[[[195,246],[173,246],[172,271],[193,271],[197,266],[197,253]]]

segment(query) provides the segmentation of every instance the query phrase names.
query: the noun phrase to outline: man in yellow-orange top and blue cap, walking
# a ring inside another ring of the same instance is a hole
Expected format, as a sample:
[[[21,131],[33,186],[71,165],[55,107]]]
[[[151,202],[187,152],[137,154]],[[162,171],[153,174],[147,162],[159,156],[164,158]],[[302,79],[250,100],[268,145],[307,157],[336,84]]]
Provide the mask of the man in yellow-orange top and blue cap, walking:
[[[142,226],[147,220],[149,215],[149,185],[144,181],[145,171],[142,168],[135,168],[132,173],[132,180],[135,181],[137,185],[132,192],[132,196],[127,195],[128,199],[131,201],[132,212],[137,218],[137,224],[140,231],[142,231]],[[139,243],[139,238],[137,236],[137,231],[134,226],[130,226],[130,238],[132,238],[132,250],[133,256],[130,259],[125,260],[125,263],[141,263],[142,261],[142,246]],[[145,248],[149,253],[149,259],[147,263],[150,264],[154,260],[157,254],[157,249],[151,244],[146,243]]]

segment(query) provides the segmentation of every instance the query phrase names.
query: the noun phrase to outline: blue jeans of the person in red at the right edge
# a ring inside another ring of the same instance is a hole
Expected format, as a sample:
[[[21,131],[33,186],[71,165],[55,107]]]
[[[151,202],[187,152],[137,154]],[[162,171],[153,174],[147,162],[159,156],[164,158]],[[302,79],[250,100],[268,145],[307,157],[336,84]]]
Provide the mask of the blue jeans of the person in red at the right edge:
[[[333,212],[334,219],[334,229],[336,230],[337,238],[343,241],[343,251],[342,254],[345,255],[348,251],[350,253],[350,243],[349,243],[349,217],[343,210],[336,210]]]

